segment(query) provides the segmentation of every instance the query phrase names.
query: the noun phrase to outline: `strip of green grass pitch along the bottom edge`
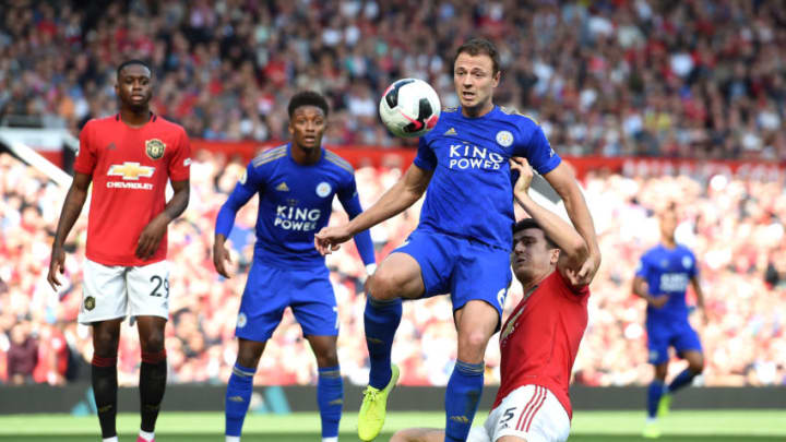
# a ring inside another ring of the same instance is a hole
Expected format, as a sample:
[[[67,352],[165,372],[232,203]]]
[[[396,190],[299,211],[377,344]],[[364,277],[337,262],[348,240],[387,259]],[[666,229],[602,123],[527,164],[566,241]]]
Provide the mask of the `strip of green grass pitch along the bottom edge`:
[[[486,413],[478,413],[481,425]],[[573,419],[571,442],[635,442],[641,438],[644,411],[579,411]],[[690,410],[671,411],[660,419],[663,442],[770,442],[786,441],[786,410]],[[357,414],[345,413],[342,441],[357,441]],[[443,427],[442,413],[390,413],[383,433],[386,441],[397,429]],[[219,413],[164,413],[156,428],[157,442],[223,441],[224,415]],[[118,417],[121,442],[134,442],[139,416]],[[313,442],[320,440],[319,415],[250,415],[243,427],[243,442]],[[100,441],[95,416],[12,415],[0,416],[1,442]],[[648,441],[648,440],[647,440]]]

